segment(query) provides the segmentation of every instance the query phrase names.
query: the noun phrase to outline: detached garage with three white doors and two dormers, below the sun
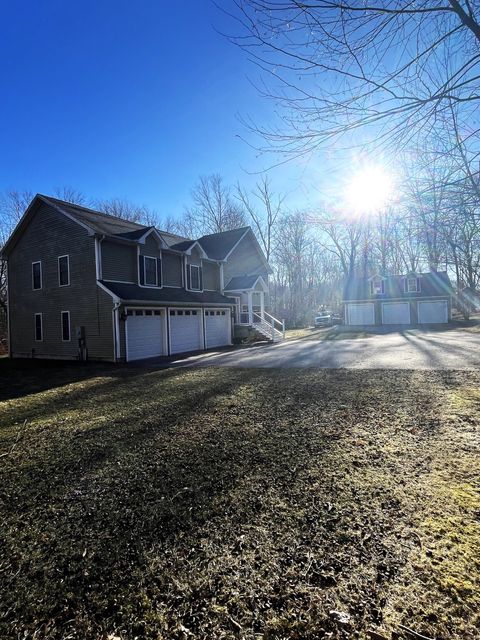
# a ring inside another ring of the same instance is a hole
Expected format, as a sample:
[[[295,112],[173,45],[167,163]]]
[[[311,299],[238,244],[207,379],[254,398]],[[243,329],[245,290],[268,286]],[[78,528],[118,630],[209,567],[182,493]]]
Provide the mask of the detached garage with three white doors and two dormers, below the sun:
[[[346,325],[419,325],[451,319],[446,271],[351,278],[344,290]]]

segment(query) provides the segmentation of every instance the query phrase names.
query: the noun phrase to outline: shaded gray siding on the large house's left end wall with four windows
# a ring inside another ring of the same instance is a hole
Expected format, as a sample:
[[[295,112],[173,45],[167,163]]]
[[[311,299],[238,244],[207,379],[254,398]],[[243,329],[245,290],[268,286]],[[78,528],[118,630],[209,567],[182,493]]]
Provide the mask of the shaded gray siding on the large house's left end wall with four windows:
[[[59,256],[70,260],[70,285],[59,287]],[[42,289],[32,290],[32,262],[42,262]],[[11,355],[75,359],[75,329],[85,327],[89,357],[113,359],[112,299],[96,284],[95,241],[88,231],[41,205],[9,257]],[[62,341],[61,312],[70,312],[71,340]],[[43,317],[43,341],[35,341],[34,314]]]

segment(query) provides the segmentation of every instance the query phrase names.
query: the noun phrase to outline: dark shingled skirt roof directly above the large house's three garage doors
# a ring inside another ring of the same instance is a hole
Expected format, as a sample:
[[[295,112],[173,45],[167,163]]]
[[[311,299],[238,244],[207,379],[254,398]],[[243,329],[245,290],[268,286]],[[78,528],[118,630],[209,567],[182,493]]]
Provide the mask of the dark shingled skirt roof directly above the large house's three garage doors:
[[[140,287],[138,284],[126,284],[123,282],[101,281],[103,286],[125,302],[173,302],[183,304],[233,304],[231,298],[227,298],[218,291],[185,291],[184,289],[164,287]]]

